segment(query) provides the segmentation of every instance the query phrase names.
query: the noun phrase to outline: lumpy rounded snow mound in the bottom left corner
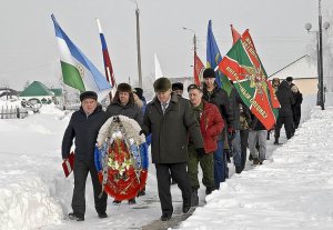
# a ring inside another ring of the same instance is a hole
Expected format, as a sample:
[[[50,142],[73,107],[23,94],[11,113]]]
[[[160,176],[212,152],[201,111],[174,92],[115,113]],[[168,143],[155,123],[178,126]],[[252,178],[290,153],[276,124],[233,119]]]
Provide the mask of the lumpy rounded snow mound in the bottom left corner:
[[[60,223],[62,209],[40,177],[23,170],[0,171],[1,229],[36,229]]]

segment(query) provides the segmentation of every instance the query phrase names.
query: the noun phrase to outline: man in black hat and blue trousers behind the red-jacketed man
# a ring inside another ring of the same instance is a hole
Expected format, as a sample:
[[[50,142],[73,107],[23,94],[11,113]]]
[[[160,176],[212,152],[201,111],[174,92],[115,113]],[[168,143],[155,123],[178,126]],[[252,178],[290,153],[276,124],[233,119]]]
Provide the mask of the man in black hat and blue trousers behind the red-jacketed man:
[[[223,89],[219,89],[215,82],[215,71],[208,68],[203,71],[203,99],[215,104],[224,121],[224,129],[218,136],[218,150],[214,152],[214,180],[215,189],[220,189],[220,182],[224,182],[226,178],[226,156],[223,152],[223,144],[226,137],[226,130],[234,133],[232,121],[233,114],[230,109],[228,93]],[[228,124],[228,126],[226,126]]]

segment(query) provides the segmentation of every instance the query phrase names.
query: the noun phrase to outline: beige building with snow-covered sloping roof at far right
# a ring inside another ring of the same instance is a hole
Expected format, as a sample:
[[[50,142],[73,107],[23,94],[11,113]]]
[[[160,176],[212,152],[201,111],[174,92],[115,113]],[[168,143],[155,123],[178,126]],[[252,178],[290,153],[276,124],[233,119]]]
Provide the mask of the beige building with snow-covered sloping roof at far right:
[[[292,63],[269,77],[285,80],[286,77],[293,77],[293,83],[296,84],[303,94],[315,94],[317,92],[317,68],[316,59],[309,54],[299,58]]]

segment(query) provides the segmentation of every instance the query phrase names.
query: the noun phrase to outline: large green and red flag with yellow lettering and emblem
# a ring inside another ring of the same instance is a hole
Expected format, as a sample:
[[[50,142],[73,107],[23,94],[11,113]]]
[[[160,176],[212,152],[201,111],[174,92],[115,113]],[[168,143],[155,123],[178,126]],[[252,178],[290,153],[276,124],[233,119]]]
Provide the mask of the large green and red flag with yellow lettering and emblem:
[[[253,63],[253,59],[250,58],[256,56],[256,52],[252,50],[252,53],[249,53],[245,46],[248,44],[239,39],[222,59],[219,68],[233,81],[243,102],[269,130],[275,123],[275,116],[270,103],[266,76],[262,66]]]

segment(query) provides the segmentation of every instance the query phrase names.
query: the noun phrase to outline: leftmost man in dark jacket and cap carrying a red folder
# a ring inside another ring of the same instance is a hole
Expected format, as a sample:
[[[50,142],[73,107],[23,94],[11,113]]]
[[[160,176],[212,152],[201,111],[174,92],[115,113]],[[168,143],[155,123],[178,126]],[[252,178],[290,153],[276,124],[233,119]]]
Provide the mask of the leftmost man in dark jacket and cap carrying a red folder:
[[[102,197],[102,186],[98,179],[98,171],[93,161],[93,151],[95,140],[100,128],[107,120],[102,107],[98,106],[98,96],[93,91],[85,91],[80,94],[81,108],[74,112],[65,129],[62,140],[62,159],[67,160],[75,138],[75,161],[74,161],[74,190],[72,198],[73,212],[69,213],[69,219],[83,221],[85,212],[85,181],[88,172],[90,172],[93,194],[94,208],[100,218],[107,218],[107,193]]]

